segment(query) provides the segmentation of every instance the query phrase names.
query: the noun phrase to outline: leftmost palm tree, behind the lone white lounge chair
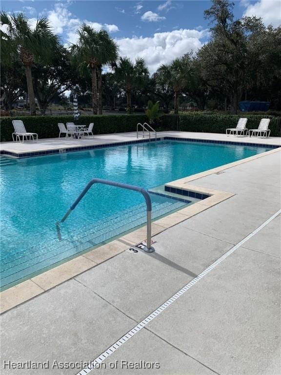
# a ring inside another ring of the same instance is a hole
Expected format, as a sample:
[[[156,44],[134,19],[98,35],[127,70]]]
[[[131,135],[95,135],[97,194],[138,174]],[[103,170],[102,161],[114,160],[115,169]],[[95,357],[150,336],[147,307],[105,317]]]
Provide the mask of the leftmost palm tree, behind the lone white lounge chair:
[[[5,26],[5,31],[2,30],[1,33],[1,42],[5,40],[9,48],[17,52],[24,66],[30,114],[36,115],[31,68],[35,66],[36,61],[50,60],[59,45],[59,38],[53,34],[45,17],[38,19],[35,28],[32,29],[23,13],[17,15],[13,13],[9,16],[2,11],[0,24]]]

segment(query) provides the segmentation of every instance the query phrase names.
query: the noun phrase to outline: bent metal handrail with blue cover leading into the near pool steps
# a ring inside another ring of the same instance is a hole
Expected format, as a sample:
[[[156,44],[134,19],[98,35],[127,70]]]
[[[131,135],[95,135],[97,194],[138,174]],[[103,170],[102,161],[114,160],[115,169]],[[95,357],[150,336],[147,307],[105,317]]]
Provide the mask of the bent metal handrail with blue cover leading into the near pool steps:
[[[88,182],[86,187],[81,191],[79,197],[74,201],[74,203],[70,206],[69,210],[65,213],[63,218],[57,223],[57,229],[58,233],[60,232],[60,223],[63,223],[68,215],[76,208],[80,200],[83,198],[83,196],[86,194],[86,192],[92,187],[94,184],[103,184],[103,185],[109,185],[109,186],[115,186],[115,187],[121,187],[123,189],[127,190],[133,190],[133,191],[138,191],[140,192],[145,199],[146,203],[146,231],[147,231],[147,239],[146,239],[146,246],[143,249],[146,252],[153,252],[155,249],[151,246],[151,210],[152,210],[152,205],[151,205],[151,199],[150,196],[147,192],[147,190],[143,187],[138,187],[134,185],[128,185],[128,184],[122,184],[121,182],[115,182],[115,181],[110,181],[110,180],[103,180],[100,178],[93,178],[91,181]]]

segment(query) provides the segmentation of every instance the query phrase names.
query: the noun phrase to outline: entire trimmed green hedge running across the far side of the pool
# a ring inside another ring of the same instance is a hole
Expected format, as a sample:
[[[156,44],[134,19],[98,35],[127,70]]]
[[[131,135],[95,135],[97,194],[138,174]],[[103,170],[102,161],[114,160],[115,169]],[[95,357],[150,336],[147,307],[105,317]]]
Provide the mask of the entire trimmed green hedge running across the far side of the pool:
[[[156,126],[165,130],[194,131],[206,133],[225,133],[225,129],[236,127],[241,115],[222,115],[222,114],[182,114],[163,115],[161,121]],[[244,115],[247,117],[247,128],[255,129],[259,126],[262,118],[270,118],[269,128],[271,136],[281,136],[281,118],[266,115]],[[39,138],[56,138],[59,136],[58,123],[73,122],[73,116],[22,116],[22,117],[3,117],[0,121],[0,140],[11,141],[14,131],[12,120],[22,120],[26,131],[38,133]],[[81,116],[78,124],[88,126],[93,122],[94,134],[123,133],[136,131],[138,123],[148,122],[145,115],[98,115]]]

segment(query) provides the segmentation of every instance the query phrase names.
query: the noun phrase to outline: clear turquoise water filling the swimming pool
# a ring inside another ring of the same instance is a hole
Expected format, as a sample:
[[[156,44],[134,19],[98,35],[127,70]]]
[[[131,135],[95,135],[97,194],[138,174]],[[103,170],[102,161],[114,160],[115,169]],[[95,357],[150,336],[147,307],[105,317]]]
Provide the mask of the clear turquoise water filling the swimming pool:
[[[58,222],[94,178],[147,189],[240,160],[266,148],[160,141],[13,160],[1,168],[1,286],[11,286],[82,250],[145,222],[140,193],[94,185]],[[153,217],[183,203],[152,195]]]

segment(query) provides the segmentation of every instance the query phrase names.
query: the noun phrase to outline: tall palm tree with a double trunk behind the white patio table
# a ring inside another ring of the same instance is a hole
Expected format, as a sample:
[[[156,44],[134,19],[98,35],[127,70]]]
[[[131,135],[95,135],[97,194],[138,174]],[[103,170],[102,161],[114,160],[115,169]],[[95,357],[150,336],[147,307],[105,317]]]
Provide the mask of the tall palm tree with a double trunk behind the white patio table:
[[[90,69],[92,79],[93,114],[102,114],[102,66],[117,59],[118,46],[105,30],[97,31],[82,23],[78,30],[78,42],[71,48],[72,61],[80,73],[87,74]]]

